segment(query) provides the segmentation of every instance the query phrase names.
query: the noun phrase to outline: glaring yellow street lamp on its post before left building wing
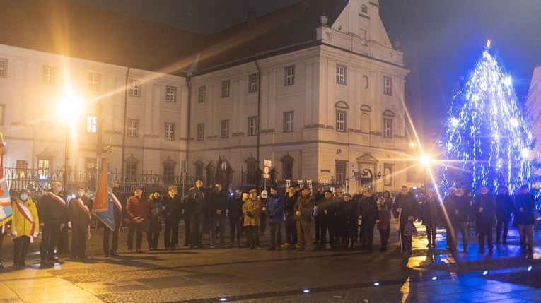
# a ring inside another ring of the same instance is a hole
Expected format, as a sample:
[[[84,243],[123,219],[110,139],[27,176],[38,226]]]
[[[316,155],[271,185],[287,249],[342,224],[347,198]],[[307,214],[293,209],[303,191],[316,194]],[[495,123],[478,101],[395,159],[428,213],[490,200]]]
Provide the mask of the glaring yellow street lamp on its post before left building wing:
[[[75,129],[77,117],[81,112],[81,98],[71,88],[64,90],[64,96],[60,100],[61,121],[66,124],[66,141],[64,149],[64,189],[67,189],[68,165],[69,165],[69,133]]]

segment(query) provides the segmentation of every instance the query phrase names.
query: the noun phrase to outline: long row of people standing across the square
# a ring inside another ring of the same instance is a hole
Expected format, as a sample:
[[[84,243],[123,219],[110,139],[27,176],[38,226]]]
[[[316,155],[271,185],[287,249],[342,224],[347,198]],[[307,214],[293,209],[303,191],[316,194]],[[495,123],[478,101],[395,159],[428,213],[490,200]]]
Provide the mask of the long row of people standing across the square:
[[[475,221],[479,252],[484,253],[486,239],[491,254],[494,227],[496,244],[500,244],[500,239],[501,243],[508,244],[511,215],[520,231],[523,249],[533,251],[535,199],[529,193],[528,185],[521,186],[520,193],[513,197],[505,186],[497,195],[491,194],[488,186],[480,186],[475,197],[471,191],[451,187],[443,201],[431,189],[426,191],[421,201],[417,201],[407,186],[402,186],[394,198],[389,191],[375,194],[368,187],[351,196],[340,187],[332,191],[320,185],[312,194],[310,187],[298,184],[289,186],[285,194],[276,184],[270,186],[269,192],[258,193],[256,189],[243,192],[238,187],[230,193],[221,184],[213,188],[204,187],[200,179],[184,197],[178,195],[178,188],[174,185],[169,186],[163,196],[157,189],[144,194],[143,188],[136,187],[133,196],[127,198],[119,189],[119,184],[113,182],[112,194],[122,207],[114,208],[115,230],[103,228],[106,257],[118,256],[119,231],[124,224],[128,230],[127,254],[143,252],[144,232],[149,251],[162,249],[162,228],[165,230],[163,249],[180,249],[178,232],[181,220],[185,222],[184,246],[190,249],[204,247],[204,232],[210,234],[211,249],[235,246],[259,249],[260,234],[266,234],[268,227],[270,245],[266,249],[269,251],[313,251],[339,246],[345,249],[357,246],[361,250],[373,251],[374,231],[377,229],[380,233],[379,251],[383,252],[388,246],[390,220],[393,218],[399,222],[400,250],[404,253],[412,251],[409,225],[420,220],[426,226],[429,249],[436,248],[436,227],[442,224],[446,227],[446,249],[450,252],[457,250],[459,231],[463,251],[467,251],[470,226]],[[57,262],[54,252],[66,227],[71,228],[71,259],[87,258],[86,239],[90,235],[93,200],[86,196],[84,186],[79,186],[69,201],[62,193],[62,184],[53,182],[37,206],[27,189],[22,189],[18,197],[12,198],[10,232],[14,242],[14,266],[25,266],[30,242],[40,232],[40,265],[45,267]],[[228,237],[225,234],[227,221],[230,227]],[[1,243],[8,233],[6,230],[4,228],[0,234],[0,257]]]

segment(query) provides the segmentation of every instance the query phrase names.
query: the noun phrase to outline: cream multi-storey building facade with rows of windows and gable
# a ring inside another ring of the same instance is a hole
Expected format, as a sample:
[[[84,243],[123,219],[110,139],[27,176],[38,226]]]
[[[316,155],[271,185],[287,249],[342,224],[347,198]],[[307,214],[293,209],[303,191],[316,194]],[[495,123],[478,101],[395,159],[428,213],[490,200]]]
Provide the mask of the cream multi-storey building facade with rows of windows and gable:
[[[186,160],[189,176],[211,183],[226,168],[221,181],[240,186],[270,160],[279,181],[400,188],[409,71],[378,9],[349,1],[307,47],[193,76],[0,44],[4,164],[47,170],[67,157],[68,170],[92,172],[110,143],[124,174],[177,175]]]

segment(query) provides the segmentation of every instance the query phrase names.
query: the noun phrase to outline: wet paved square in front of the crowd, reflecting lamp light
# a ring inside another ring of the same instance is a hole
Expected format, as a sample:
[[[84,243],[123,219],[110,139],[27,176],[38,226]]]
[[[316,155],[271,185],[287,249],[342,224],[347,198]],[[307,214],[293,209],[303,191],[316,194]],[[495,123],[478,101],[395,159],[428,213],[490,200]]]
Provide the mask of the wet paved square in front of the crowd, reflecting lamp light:
[[[448,254],[443,230],[438,249],[427,251],[419,227],[412,254],[400,254],[396,229],[383,253],[376,231],[373,252],[266,251],[268,235],[257,250],[210,249],[206,235],[204,249],[144,254],[126,254],[124,229],[117,258],[103,256],[98,230],[93,259],[71,261],[61,254],[46,269],[38,269],[37,253],[25,268],[14,268],[6,237],[0,302],[541,302],[540,231],[534,254],[520,250],[516,230],[493,255],[477,253],[474,236],[470,252]],[[38,248],[39,240],[30,246]]]

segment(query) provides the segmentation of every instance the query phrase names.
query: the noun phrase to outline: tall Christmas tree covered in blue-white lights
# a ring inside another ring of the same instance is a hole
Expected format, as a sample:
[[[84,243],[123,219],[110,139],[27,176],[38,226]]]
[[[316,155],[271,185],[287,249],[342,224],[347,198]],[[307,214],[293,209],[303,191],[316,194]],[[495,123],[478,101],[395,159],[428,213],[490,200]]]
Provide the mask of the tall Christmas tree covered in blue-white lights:
[[[536,181],[536,160],[528,160],[535,140],[517,105],[511,76],[504,74],[489,53],[490,41],[455,96],[440,145],[443,165],[438,168],[441,188],[472,187],[510,191]]]

